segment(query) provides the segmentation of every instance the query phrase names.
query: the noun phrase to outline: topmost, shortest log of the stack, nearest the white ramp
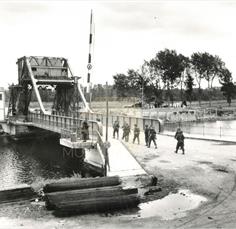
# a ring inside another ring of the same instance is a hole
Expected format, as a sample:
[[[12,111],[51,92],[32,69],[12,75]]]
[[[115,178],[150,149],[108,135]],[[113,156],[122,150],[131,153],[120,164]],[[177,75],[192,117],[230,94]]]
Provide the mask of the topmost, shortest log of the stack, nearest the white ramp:
[[[49,192],[60,192],[66,190],[95,188],[95,187],[106,187],[115,186],[121,183],[118,176],[112,177],[97,177],[97,178],[82,178],[73,181],[66,182],[55,182],[44,186],[43,191]]]

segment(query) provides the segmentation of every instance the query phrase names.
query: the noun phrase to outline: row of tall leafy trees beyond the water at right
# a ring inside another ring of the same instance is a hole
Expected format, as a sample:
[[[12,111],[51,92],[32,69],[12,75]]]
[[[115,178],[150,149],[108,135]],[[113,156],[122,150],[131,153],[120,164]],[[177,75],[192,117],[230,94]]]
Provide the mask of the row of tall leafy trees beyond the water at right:
[[[128,69],[127,73],[113,76],[114,89],[118,97],[136,96],[145,102],[161,104],[163,101],[174,103],[174,93],[179,89],[180,100],[190,103],[197,99],[199,105],[207,91],[209,103],[216,90],[213,83],[218,80],[220,91],[230,105],[236,95],[231,72],[217,55],[207,52],[195,52],[190,57],[178,54],[176,50],[159,51],[154,58],[144,61],[140,69]],[[207,89],[202,89],[203,81]]]

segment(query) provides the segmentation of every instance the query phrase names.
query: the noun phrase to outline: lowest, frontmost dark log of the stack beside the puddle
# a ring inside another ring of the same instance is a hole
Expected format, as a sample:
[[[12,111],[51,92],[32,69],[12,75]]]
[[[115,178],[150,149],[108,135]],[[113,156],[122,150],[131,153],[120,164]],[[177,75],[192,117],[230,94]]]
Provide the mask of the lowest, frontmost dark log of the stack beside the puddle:
[[[139,202],[139,198],[136,194],[105,198],[91,198],[57,204],[55,207],[56,210],[53,214],[61,217],[95,212],[110,212],[114,210],[137,207]]]

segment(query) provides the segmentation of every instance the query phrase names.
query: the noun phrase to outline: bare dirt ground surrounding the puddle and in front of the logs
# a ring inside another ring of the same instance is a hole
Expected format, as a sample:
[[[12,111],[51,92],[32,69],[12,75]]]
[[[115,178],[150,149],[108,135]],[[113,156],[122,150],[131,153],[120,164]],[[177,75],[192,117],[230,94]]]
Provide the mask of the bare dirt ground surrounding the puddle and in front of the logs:
[[[236,223],[232,215],[236,211],[235,144],[186,139],[186,155],[181,155],[174,153],[176,140],[173,137],[157,135],[157,149],[145,147],[143,133],[140,137],[140,145],[124,144],[148,173],[158,177],[162,191],[156,193],[156,199],[187,189],[207,198],[207,202],[186,211],[183,217],[170,220],[160,217],[158,211],[156,215],[141,217],[139,209],[55,218],[37,203],[4,206],[0,209],[2,228],[76,228],[78,225],[81,228],[215,228]]]

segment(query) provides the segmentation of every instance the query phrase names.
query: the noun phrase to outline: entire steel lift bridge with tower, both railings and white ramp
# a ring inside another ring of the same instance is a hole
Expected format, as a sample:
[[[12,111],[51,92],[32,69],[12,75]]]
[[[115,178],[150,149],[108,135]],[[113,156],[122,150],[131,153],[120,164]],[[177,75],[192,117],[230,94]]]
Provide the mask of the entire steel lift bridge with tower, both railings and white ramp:
[[[67,59],[30,56],[19,58],[17,65],[18,84],[10,86],[7,115],[1,124],[6,133],[16,137],[31,135],[38,129],[47,130],[59,134],[60,144],[65,149],[85,152],[85,160],[105,175],[146,173],[120,141],[111,140],[112,144],[106,141],[102,134],[106,117],[91,111],[79,77],[73,75]],[[47,90],[54,92],[51,109],[46,109],[42,100],[42,94]],[[37,99],[39,110],[29,108],[32,97]],[[98,118],[101,122],[97,122]],[[143,129],[151,124],[160,129],[157,120],[125,116],[109,116],[108,125],[112,127],[115,120],[119,120],[121,126],[126,122],[131,127],[137,124]],[[81,134],[84,121],[89,125],[86,141]],[[122,160],[119,166],[118,151]]]

